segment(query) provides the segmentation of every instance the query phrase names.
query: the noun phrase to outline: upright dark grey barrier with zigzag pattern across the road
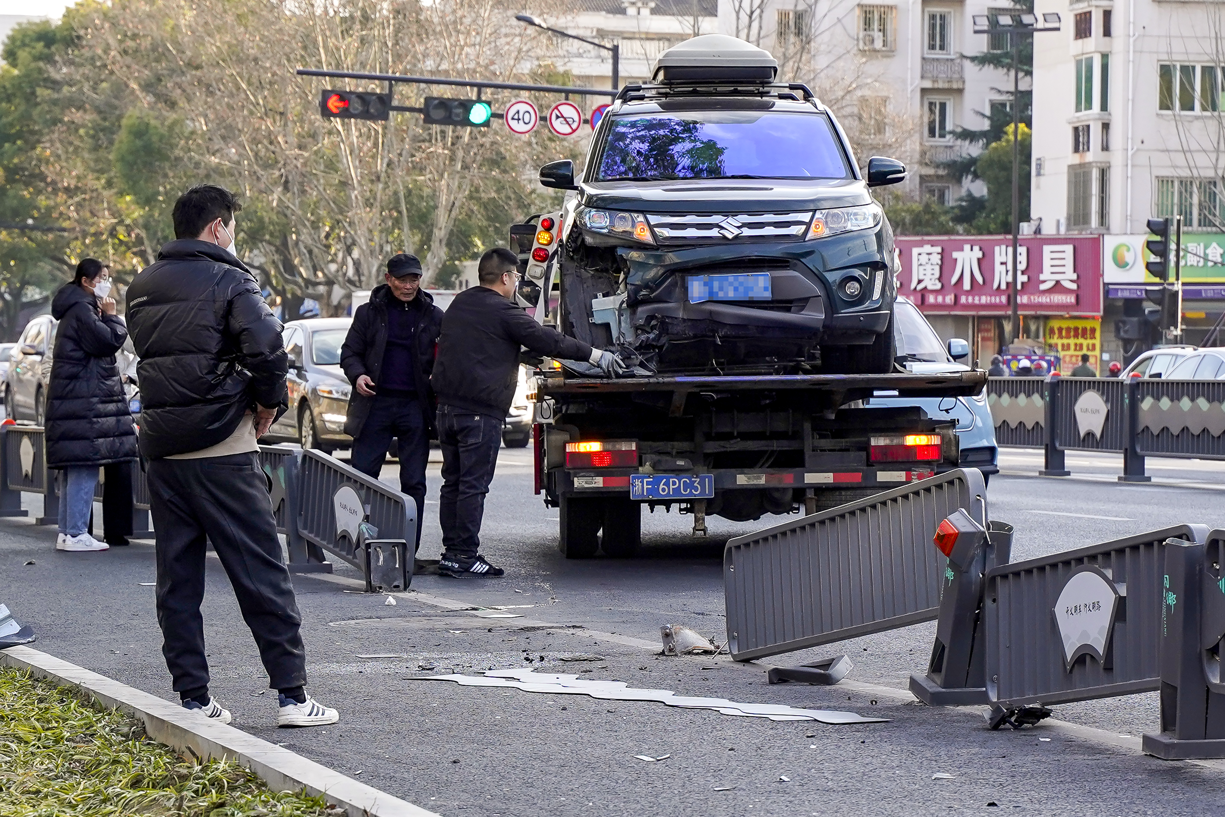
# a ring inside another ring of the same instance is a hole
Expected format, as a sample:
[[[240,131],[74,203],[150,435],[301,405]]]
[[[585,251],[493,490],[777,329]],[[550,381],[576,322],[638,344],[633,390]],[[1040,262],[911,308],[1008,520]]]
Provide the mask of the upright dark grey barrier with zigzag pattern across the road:
[[[1123,454],[1123,483],[1147,483],[1145,457],[1225,459],[1225,381],[990,377],[1001,446],[1041,446],[1046,476],[1067,476],[1063,452]]]

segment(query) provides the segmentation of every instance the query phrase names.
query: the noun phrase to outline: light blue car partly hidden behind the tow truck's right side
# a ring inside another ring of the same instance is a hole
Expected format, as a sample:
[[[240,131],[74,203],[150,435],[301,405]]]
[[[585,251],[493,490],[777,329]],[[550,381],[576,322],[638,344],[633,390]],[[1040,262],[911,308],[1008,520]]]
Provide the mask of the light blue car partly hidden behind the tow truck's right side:
[[[946,345],[931,328],[914,304],[898,296],[893,307],[893,333],[898,343],[898,358],[905,358],[905,367],[920,375],[936,375],[953,371],[969,371],[965,364],[957,363],[970,356],[970,347],[965,341],[953,338]],[[947,416],[957,421],[957,437],[960,443],[963,468],[978,468],[982,478],[1000,472],[996,464],[1000,448],[995,441],[995,423],[987,408],[987,394],[984,390],[973,397],[897,397],[897,392],[876,392],[870,405],[918,405],[930,418]]]

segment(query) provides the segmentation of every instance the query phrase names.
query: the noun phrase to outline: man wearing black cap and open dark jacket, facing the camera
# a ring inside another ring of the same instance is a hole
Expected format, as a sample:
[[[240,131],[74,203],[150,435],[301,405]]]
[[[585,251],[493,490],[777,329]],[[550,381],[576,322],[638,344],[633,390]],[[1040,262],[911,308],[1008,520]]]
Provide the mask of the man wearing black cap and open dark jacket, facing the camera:
[[[350,463],[379,476],[396,437],[399,490],[417,501],[417,545],[425,511],[425,465],[435,413],[430,374],[442,331],[442,310],[421,287],[421,262],[399,254],[387,262],[387,282],[353,314],[341,348],[341,367],[353,383],[344,432]]]

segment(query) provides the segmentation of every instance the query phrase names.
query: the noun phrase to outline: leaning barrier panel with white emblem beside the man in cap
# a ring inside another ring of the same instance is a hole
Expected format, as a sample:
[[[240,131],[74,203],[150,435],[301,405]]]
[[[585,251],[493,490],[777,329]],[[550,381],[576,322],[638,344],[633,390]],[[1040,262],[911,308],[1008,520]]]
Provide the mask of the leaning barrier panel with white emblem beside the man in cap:
[[[293,490],[292,486],[289,490]],[[369,592],[399,592],[413,581],[417,502],[318,451],[298,465],[298,532],[353,565]]]

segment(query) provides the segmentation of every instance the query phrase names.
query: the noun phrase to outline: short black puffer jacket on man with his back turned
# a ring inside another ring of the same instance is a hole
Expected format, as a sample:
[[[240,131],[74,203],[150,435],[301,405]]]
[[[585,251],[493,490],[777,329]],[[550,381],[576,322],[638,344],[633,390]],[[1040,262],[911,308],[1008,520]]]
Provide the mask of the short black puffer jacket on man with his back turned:
[[[170,241],[127,288],[140,363],[141,452],[158,459],[225,440],[256,403],[287,407],[281,321],[228,251]]]

